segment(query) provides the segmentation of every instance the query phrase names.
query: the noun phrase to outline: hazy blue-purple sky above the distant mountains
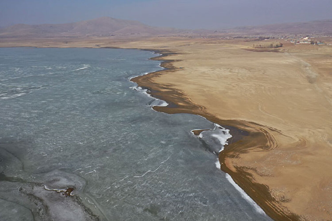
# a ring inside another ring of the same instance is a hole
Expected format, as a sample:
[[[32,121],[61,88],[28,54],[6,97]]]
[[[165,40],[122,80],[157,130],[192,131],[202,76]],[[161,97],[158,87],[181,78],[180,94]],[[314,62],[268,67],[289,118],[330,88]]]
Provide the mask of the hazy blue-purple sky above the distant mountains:
[[[0,26],[103,16],[152,26],[217,29],[332,19],[332,0],[0,0]]]

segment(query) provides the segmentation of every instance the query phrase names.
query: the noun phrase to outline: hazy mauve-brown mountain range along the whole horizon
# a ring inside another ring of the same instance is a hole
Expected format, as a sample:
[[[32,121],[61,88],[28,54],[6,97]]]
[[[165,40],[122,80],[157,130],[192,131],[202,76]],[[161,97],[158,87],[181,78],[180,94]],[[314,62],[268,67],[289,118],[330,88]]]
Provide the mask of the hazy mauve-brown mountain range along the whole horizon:
[[[218,30],[233,35],[286,35],[327,34],[332,35],[332,20],[284,23],[262,26],[246,26]],[[211,30],[180,30],[145,25],[138,21],[102,17],[67,24],[25,25],[17,24],[0,28],[0,37],[63,37],[63,36],[108,36],[108,35],[174,35],[180,33],[212,33]]]

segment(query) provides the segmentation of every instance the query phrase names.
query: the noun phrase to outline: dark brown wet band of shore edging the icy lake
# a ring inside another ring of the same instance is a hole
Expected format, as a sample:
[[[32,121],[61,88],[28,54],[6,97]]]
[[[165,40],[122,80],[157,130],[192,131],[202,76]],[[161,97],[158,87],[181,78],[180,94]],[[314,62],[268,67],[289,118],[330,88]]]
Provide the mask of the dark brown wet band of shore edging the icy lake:
[[[228,145],[219,153],[219,162],[221,170],[229,174],[233,181],[239,185],[264,211],[274,220],[300,220],[300,217],[287,209],[273,198],[269,191],[269,187],[264,184],[258,184],[252,174],[246,168],[238,167],[232,164],[232,159],[239,157],[241,153],[249,150],[258,149],[267,151],[277,147],[277,142],[272,132],[281,133],[280,131],[268,126],[260,125],[255,122],[244,120],[225,120],[208,113],[203,106],[193,103],[185,94],[172,88],[172,85],[161,85],[155,83],[152,79],[167,72],[180,71],[181,68],[173,66],[175,60],[165,60],[163,58],[177,54],[167,50],[150,50],[160,54],[152,57],[152,60],[161,61],[160,66],[164,70],[151,72],[145,75],[137,76],[130,81],[135,82],[139,87],[148,89],[148,92],[154,98],[163,100],[169,105],[166,107],[154,106],[153,110],[173,113],[189,113],[205,117],[207,120],[220,124],[229,129],[232,137],[228,139]]]

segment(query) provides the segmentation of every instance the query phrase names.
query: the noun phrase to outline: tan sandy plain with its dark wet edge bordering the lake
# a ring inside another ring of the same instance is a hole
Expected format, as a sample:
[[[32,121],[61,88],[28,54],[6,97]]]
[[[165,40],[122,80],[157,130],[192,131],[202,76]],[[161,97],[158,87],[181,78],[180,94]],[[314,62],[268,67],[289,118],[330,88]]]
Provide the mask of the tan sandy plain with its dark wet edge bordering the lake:
[[[4,40],[0,46],[160,50],[169,68],[133,79],[170,105],[233,135],[221,169],[275,220],[332,219],[332,46],[286,44],[250,51],[250,41],[149,37]]]

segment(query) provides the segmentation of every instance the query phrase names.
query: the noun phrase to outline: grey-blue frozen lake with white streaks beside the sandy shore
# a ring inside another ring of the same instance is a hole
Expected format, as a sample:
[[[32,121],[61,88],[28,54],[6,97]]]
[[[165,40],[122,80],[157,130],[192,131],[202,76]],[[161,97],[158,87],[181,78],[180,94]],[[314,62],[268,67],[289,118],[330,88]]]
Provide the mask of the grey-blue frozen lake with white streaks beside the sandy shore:
[[[164,103],[129,81],[161,69],[153,56],[0,48],[0,217],[271,220],[216,168],[221,146],[192,134],[212,122],[153,111]]]

